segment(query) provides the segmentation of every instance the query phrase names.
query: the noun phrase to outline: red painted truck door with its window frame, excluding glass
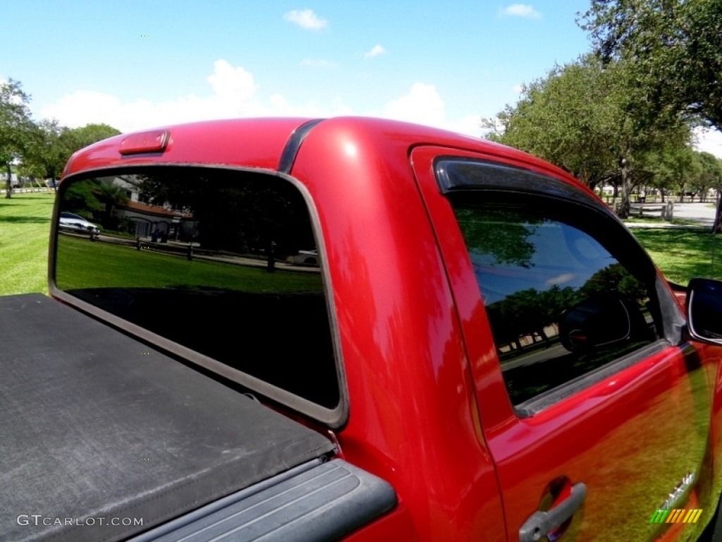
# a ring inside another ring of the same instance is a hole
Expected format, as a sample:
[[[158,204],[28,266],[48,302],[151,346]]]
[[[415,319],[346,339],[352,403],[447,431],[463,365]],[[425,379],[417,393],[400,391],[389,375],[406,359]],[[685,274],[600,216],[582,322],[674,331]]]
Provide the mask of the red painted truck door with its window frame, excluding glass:
[[[586,483],[588,489],[583,520],[565,540],[610,539],[610,534],[611,539],[628,539],[630,533],[636,533],[635,540],[651,539],[653,528],[640,518],[661,506],[688,472],[704,478],[689,502],[714,509],[718,491],[710,491],[708,390],[718,361],[700,345],[696,350],[692,345],[671,346],[535,416],[516,415],[464,239],[432,175],[432,161],[449,154],[487,158],[420,147],[412,159],[432,220],[438,231],[445,232],[440,245],[474,371],[484,436],[497,465],[510,540],[538,509],[544,489],[560,476],[570,483]],[[650,472],[659,475],[648,476]],[[613,523],[609,517],[615,518]],[[609,528],[615,524],[618,527]],[[685,535],[689,534],[687,530]]]

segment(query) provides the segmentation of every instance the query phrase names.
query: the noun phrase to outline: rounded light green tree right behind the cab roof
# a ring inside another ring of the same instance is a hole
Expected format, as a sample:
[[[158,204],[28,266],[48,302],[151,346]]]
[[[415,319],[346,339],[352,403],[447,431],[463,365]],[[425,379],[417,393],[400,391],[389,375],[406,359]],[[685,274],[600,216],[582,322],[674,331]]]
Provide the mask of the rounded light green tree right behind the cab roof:
[[[591,188],[619,186],[622,218],[635,184],[649,178],[645,156],[691,138],[689,124],[671,108],[649,109],[626,62],[605,64],[594,55],[555,67],[525,87],[516,106],[482,125],[495,127],[492,139],[560,165]]]

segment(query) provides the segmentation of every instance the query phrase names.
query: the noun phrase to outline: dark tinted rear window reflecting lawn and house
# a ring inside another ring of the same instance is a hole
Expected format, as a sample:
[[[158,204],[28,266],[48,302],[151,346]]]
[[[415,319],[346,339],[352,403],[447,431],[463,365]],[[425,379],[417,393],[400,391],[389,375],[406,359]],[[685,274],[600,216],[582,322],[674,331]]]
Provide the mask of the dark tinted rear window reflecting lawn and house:
[[[225,376],[321,421],[338,419],[323,262],[292,181],[217,168],[133,169],[64,182],[60,198],[61,215],[100,228],[88,235],[58,225],[61,297],[219,362],[231,369]]]

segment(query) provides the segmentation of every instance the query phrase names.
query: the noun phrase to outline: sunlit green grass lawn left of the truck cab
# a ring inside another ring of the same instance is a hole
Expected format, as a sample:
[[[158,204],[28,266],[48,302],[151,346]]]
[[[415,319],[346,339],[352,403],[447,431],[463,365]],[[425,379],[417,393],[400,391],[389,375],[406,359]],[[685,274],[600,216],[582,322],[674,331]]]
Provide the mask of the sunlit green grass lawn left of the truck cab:
[[[48,293],[48,235],[53,192],[0,197],[0,296]]]

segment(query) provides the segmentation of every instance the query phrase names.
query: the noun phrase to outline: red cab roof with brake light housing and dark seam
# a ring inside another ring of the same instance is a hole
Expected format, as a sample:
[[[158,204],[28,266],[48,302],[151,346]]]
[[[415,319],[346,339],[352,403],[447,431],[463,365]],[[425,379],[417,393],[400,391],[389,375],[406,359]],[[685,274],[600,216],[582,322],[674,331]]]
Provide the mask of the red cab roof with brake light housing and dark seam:
[[[504,145],[419,124],[369,117],[331,119],[258,118],[201,121],[120,134],[79,150],[71,156],[63,177],[126,165],[233,165],[267,170],[290,170],[292,159],[308,134],[388,145],[438,145],[482,152],[526,163],[556,176],[570,176],[560,168]],[[314,138],[316,139],[316,138]],[[294,148],[295,147],[295,148]],[[284,171],[288,173],[289,171]]]

